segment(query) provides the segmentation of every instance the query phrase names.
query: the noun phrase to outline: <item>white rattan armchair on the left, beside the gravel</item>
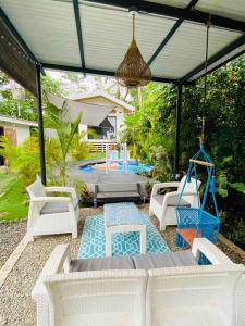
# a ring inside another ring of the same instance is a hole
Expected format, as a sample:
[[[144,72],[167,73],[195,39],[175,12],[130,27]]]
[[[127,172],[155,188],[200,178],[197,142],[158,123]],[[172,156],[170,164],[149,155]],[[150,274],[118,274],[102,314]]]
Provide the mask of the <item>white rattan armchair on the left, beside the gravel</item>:
[[[28,240],[34,236],[71,233],[77,237],[78,198],[71,187],[45,187],[40,178],[27,188],[29,193]],[[68,192],[70,197],[49,197],[48,192]]]

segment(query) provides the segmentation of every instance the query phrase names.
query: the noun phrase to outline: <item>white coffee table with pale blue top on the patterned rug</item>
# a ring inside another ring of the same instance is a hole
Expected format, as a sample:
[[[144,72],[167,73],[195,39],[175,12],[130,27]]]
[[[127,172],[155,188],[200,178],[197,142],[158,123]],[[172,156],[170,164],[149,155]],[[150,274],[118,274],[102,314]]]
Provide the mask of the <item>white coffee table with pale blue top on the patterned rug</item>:
[[[138,209],[134,203],[110,203],[103,205],[106,255],[112,254],[112,237],[114,233],[139,233],[140,253],[146,253],[146,225],[140,218]]]

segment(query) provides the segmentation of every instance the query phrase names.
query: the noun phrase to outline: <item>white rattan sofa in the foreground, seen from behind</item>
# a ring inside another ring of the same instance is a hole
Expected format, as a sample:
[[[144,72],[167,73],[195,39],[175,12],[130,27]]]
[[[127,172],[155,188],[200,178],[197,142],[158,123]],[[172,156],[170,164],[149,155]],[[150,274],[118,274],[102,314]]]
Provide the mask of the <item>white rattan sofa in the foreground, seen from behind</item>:
[[[196,264],[200,252],[212,265]],[[245,325],[244,266],[200,238],[192,251],[94,260],[60,244],[32,296],[37,326]]]

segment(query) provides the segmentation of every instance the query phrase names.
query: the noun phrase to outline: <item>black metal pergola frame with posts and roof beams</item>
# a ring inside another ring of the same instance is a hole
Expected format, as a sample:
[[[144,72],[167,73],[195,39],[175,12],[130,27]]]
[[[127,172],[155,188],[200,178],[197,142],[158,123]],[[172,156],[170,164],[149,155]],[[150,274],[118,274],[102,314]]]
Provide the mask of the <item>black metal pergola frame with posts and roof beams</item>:
[[[65,1],[66,0],[56,0],[56,1]],[[96,75],[106,75],[106,76],[114,76],[114,72],[112,71],[103,71],[103,70],[95,70],[86,67],[85,54],[84,54],[84,41],[83,41],[83,30],[81,24],[81,15],[79,15],[79,1],[78,0],[70,0],[73,4],[74,9],[74,20],[76,26],[76,34],[77,34],[77,42],[79,48],[79,55],[81,55],[81,66],[70,66],[70,65],[60,65],[60,64],[50,64],[46,62],[39,62],[37,58],[34,55],[29,47],[25,43],[22,36],[19,34],[14,25],[11,23],[9,17],[5,15],[3,10],[0,8],[0,17],[7,24],[9,30],[12,33],[19,45],[28,55],[28,58],[35,63],[36,65],[36,87],[37,87],[37,104],[38,104],[38,128],[39,128],[39,148],[40,148],[40,167],[41,167],[41,179],[42,183],[46,184],[46,160],[45,160],[45,138],[44,138],[44,121],[42,121],[42,100],[41,100],[41,83],[40,83],[40,75],[41,73],[45,74],[44,68],[51,68],[51,70],[59,70],[59,71],[69,71],[69,72],[77,72],[84,74],[96,74]],[[95,4],[102,4],[109,5],[114,8],[121,8],[128,10],[132,7],[136,7],[139,13],[151,13],[168,17],[177,18],[176,23],[173,25],[171,30],[168,35],[162,39],[158,48],[155,50],[150,59],[148,60],[148,64],[152,64],[166,45],[171,40],[175,32],[179,29],[181,24],[184,21],[191,21],[199,24],[206,24],[209,14],[200,11],[195,10],[195,5],[197,4],[198,0],[191,0],[189,4],[185,9],[171,7],[167,4],[150,2],[150,1],[140,1],[140,0],[87,0],[87,2],[95,3]],[[245,22],[236,21],[232,18],[226,18],[219,15],[211,16],[211,24],[217,27],[228,28],[236,32],[245,33]],[[236,48],[245,43],[245,34],[237,38],[235,41],[232,41],[230,45],[224,47],[218,53],[215,53],[208,60],[208,66],[215,64],[226,54],[234,51]],[[234,54],[229,60],[218,64],[213,68],[208,71],[208,74],[213,72],[215,70],[219,68],[226,62],[237,58],[238,55],[245,53],[245,50]],[[185,76],[179,79],[174,78],[164,78],[164,77],[152,77],[154,82],[158,83],[171,83],[177,87],[177,102],[175,109],[175,146],[174,146],[174,174],[176,175],[179,172],[179,158],[180,158],[180,124],[181,124],[181,111],[182,111],[182,98],[183,98],[183,85],[191,85],[194,84],[196,79],[204,76],[201,73],[205,68],[205,62],[196,66],[194,70],[188,72]],[[197,74],[201,73],[197,78],[194,78]],[[192,79],[194,78],[194,79]]]

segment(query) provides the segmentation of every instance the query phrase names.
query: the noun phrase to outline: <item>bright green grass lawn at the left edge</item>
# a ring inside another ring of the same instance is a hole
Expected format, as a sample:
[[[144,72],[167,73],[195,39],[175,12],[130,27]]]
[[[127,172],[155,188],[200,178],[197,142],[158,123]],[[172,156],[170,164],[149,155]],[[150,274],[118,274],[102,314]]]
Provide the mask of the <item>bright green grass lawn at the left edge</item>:
[[[27,195],[20,177],[0,174],[0,221],[22,220],[27,216]]]

